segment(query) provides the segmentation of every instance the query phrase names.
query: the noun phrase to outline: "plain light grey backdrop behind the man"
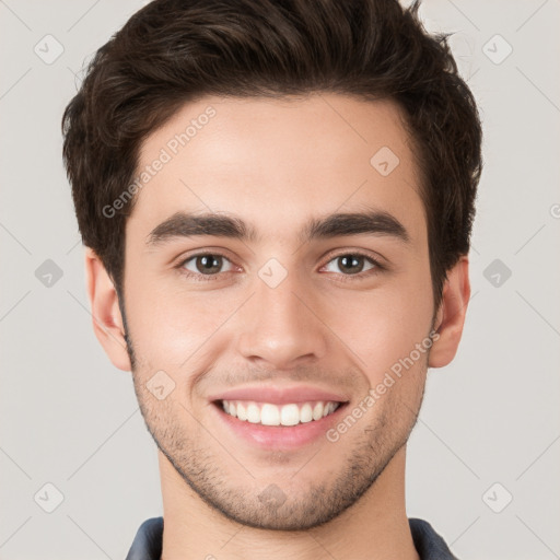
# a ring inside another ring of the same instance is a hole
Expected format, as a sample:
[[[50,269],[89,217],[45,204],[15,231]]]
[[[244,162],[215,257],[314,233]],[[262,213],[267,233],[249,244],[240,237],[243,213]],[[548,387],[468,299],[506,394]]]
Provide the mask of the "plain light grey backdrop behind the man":
[[[93,335],[59,129],[84,59],[141,5],[0,0],[0,559],[124,558],[162,514],[130,374]],[[560,4],[425,0],[421,14],[456,32],[486,166],[464,339],[429,373],[408,515],[462,559],[560,558]]]

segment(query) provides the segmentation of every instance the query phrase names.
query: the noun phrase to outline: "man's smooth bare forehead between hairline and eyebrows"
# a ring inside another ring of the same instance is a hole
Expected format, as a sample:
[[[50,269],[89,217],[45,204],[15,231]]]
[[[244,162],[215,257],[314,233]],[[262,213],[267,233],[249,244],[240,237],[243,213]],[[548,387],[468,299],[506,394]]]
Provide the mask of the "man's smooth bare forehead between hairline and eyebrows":
[[[412,236],[425,230],[411,140],[390,101],[207,96],[144,140],[136,177],[127,230],[144,237],[178,211],[243,217],[259,240],[371,209],[396,215]]]

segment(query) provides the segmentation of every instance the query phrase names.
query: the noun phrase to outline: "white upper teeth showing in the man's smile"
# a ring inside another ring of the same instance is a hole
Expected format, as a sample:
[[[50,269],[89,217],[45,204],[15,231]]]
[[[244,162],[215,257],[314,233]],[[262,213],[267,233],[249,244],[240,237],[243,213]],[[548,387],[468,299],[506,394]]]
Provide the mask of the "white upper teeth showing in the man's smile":
[[[334,412],[339,405],[340,402],[318,400],[279,407],[271,402],[222,400],[222,407],[230,416],[264,425],[295,425],[300,422],[319,420]]]

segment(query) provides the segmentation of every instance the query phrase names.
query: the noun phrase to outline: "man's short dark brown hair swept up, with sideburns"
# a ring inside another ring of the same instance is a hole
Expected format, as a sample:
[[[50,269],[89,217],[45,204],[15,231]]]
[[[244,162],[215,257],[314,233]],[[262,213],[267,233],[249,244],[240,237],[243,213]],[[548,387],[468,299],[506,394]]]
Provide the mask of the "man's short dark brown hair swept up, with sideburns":
[[[82,242],[119,301],[135,199],[113,218],[103,209],[132,180],[148,135],[206,94],[331,92],[388,97],[404,109],[439,306],[446,271],[469,250],[482,132],[448,34],[428,34],[418,8],[418,0],[408,9],[397,0],[155,0],[135,13],[97,50],[62,117]]]

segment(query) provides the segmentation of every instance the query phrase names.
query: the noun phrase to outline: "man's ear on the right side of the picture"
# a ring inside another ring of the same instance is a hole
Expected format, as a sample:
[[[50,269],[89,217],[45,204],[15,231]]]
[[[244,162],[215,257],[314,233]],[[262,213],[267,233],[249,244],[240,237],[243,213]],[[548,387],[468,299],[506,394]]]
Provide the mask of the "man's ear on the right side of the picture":
[[[443,368],[455,358],[463,334],[469,299],[468,257],[463,256],[447,271],[442,302],[433,327],[439,337],[436,335],[433,338],[434,342],[428,360],[429,368]]]

